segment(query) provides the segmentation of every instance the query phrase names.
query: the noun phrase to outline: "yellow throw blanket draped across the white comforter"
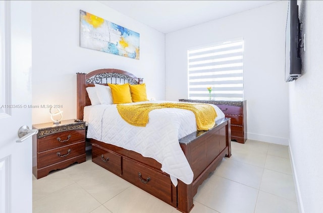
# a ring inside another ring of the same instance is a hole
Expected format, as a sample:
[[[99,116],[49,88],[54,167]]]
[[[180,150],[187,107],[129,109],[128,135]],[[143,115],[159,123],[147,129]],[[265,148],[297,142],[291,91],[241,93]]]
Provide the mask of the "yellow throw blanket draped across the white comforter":
[[[209,130],[215,124],[217,112],[211,105],[204,103],[141,103],[134,105],[117,104],[120,116],[129,124],[144,127],[148,123],[148,114],[161,108],[179,108],[194,113],[197,130]]]

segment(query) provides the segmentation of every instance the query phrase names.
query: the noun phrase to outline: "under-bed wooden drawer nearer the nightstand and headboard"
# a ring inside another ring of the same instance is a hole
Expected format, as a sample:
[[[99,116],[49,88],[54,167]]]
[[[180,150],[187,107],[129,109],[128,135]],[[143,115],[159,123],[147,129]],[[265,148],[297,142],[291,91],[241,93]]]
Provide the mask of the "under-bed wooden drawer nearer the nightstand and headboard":
[[[119,154],[92,145],[92,162],[119,176],[122,174],[121,160]]]

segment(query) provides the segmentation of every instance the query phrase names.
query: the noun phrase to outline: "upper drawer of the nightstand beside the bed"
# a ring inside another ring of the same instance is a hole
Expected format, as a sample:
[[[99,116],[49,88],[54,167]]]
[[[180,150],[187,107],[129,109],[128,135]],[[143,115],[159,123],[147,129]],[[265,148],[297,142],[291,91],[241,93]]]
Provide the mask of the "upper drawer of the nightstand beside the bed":
[[[37,140],[38,152],[85,141],[85,130],[70,130],[48,135]]]

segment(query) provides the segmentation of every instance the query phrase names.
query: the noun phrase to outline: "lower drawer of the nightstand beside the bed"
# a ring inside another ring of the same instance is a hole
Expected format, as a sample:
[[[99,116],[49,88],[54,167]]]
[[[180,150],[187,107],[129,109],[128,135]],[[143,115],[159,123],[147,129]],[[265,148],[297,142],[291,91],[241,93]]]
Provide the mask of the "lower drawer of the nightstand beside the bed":
[[[40,169],[52,164],[63,162],[84,153],[85,142],[74,143],[72,145],[39,152],[37,154],[37,168]]]

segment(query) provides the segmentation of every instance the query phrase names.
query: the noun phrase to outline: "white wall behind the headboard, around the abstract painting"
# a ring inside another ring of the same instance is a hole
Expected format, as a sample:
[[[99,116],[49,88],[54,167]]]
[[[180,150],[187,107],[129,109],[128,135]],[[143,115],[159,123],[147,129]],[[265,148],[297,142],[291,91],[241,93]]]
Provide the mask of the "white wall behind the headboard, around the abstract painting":
[[[82,48],[80,10],[140,34],[140,60]],[[115,68],[144,78],[147,96],[165,99],[165,34],[97,1],[32,2],[33,104],[63,104],[63,119],[76,118],[76,73]],[[33,109],[33,124],[51,122],[49,109]]]

